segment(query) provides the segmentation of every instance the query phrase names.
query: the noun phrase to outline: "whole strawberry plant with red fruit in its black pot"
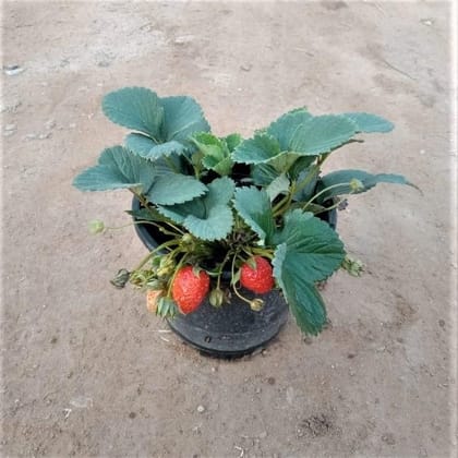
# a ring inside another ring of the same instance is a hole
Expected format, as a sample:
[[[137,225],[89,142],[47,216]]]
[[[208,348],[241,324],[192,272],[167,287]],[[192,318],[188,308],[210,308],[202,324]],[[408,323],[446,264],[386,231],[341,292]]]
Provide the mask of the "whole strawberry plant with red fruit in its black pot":
[[[317,335],[327,321],[317,284],[339,268],[361,270],[336,231],[336,208],[377,183],[410,184],[355,169],[322,173],[336,149],[393,129],[375,114],[298,108],[242,138],[212,133],[188,96],[125,87],[107,94],[103,110],[132,132],[73,184],[129,190],[128,213],[148,248],[112,284],[146,291],[149,310],[214,354],[265,345],[288,311],[303,333]],[[93,221],[92,230],[106,228]]]

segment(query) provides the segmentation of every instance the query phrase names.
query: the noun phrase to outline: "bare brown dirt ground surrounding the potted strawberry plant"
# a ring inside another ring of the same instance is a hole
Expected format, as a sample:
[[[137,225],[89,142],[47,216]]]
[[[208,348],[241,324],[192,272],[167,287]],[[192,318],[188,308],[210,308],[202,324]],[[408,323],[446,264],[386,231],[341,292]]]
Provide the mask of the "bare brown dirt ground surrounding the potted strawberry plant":
[[[423,1],[3,2],[0,454],[455,456],[450,15]],[[366,273],[328,282],[330,328],[304,338],[291,318],[260,354],[208,359],[109,285],[145,249],[131,227],[86,225],[129,222],[130,195],[71,181],[122,141],[100,99],[126,85],[195,97],[218,134],[303,105],[396,124],[328,164],[423,192],[379,185],[339,214]]]

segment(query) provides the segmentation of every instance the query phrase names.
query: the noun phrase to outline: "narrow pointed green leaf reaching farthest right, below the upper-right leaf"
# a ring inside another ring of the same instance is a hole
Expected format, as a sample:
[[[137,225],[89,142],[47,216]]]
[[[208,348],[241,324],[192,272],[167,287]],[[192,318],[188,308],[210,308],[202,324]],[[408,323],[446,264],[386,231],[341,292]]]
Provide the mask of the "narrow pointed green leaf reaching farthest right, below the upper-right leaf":
[[[353,191],[353,194],[359,194],[365,191],[369,191],[371,188],[374,188],[377,183],[394,183],[394,184],[407,184],[413,188],[417,188],[414,184],[410,183],[405,177],[401,174],[394,174],[394,173],[369,173],[364,170],[337,170],[325,174],[320,180],[318,191],[324,190],[328,186],[336,186],[325,193],[318,198],[318,202],[323,202],[334,196],[349,194],[351,192],[351,188],[348,184],[351,180],[359,180],[363,184],[363,188]],[[340,186],[339,183],[342,183]]]

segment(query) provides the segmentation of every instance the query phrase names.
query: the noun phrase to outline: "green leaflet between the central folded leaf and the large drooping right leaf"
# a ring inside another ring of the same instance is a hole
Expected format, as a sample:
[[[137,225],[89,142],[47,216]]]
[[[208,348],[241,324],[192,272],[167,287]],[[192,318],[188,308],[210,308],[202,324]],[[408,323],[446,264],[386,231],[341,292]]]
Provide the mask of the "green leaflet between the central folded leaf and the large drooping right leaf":
[[[275,229],[270,198],[255,186],[238,188],[233,206],[242,219],[260,237],[260,244],[269,243]]]

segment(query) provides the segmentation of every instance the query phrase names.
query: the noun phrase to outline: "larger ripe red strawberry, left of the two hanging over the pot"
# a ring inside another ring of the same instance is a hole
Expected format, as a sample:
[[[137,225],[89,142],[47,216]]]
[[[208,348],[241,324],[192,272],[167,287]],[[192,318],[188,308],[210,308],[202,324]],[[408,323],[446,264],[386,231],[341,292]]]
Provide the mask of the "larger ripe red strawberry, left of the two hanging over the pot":
[[[201,305],[209,289],[209,277],[205,270],[195,274],[192,266],[178,270],[172,284],[172,298],[184,314]]]

